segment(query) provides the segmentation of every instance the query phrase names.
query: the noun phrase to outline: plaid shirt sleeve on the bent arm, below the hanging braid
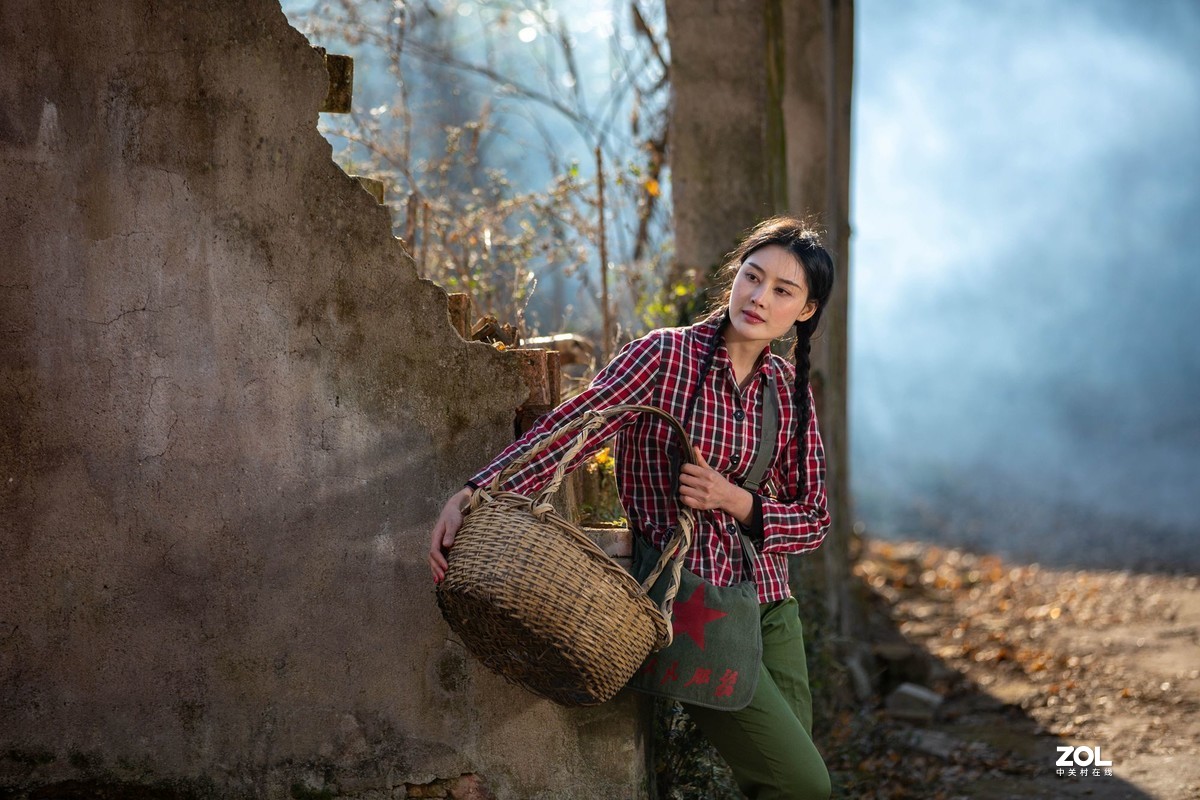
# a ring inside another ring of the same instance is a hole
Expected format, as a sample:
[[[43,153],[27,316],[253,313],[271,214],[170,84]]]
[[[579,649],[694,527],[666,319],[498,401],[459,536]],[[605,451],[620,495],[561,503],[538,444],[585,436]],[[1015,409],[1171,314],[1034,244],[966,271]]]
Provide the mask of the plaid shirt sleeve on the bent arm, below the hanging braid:
[[[824,445],[811,389],[809,407],[814,410],[804,435],[803,463],[797,447],[785,449],[779,463],[782,474],[779,497],[762,498],[763,553],[806,553],[816,549],[829,530]]]

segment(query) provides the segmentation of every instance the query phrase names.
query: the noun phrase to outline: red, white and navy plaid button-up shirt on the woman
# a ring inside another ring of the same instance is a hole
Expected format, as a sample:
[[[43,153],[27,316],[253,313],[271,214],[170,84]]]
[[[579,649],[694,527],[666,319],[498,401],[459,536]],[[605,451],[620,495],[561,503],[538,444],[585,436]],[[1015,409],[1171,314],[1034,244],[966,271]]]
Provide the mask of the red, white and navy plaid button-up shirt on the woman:
[[[622,403],[654,405],[682,422],[714,337],[719,335],[720,323],[721,318],[715,317],[690,327],[656,330],[630,342],[583,392],[542,416],[469,483],[488,486],[504,465],[524,452],[530,443],[587,409]],[[769,385],[766,380],[768,371],[775,377],[780,421],[775,455],[760,489],[763,539],[761,551],[754,557],[760,602],[782,600],[791,594],[785,557],[815,549],[829,528],[824,447],[816,413],[809,421],[802,459],[792,437],[796,426],[792,399],[794,367],[768,351],[750,384],[740,390],[728,353],[720,342],[688,425],[692,445],[700,449],[708,464],[733,483],[739,483],[750,471],[760,446],[762,393]],[[593,434],[569,469],[580,467],[612,437],[616,437],[620,501],[630,527],[647,535],[661,549],[673,533],[678,513],[678,498],[671,497],[673,479],[667,456],[673,440],[671,428],[649,414],[613,417]],[[569,441],[569,438],[563,438],[547,447],[505,480],[502,488],[536,494],[548,483]],[[737,525],[737,519],[725,511],[698,512],[696,543],[688,554],[685,566],[715,585],[734,583],[740,572]]]

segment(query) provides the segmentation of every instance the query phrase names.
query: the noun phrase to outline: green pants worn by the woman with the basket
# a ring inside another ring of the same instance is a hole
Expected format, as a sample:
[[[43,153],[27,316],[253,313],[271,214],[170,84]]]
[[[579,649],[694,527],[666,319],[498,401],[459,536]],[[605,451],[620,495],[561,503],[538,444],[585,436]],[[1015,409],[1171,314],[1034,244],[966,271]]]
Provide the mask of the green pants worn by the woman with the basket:
[[[740,711],[685,705],[750,800],[826,800],[829,771],[812,744],[804,626],[794,597],[760,606],[762,666]]]

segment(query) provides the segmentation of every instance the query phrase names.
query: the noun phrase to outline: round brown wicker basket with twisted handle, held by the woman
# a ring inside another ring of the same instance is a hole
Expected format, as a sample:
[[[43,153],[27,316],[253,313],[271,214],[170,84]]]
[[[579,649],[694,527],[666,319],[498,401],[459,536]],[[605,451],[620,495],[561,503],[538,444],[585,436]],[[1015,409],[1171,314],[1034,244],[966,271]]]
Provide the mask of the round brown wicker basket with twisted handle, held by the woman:
[[[547,501],[566,465],[592,433],[617,414],[644,411],[665,417],[691,447],[679,423],[646,405],[592,411],[546,434],[536,446],[476,489],[450,548],[438,584],[442,614],[467,649],[504,678],[563,705],[604,703],[646,657],[671,640],[674,591],[655,606],[644,587],[668,565],[678,587],[682,553],[691,543],[694,518],[680,506],[676,539],[638,584]],[[499,485],[564,435],[578,434],[548,487],[536,499],[500,492]]]

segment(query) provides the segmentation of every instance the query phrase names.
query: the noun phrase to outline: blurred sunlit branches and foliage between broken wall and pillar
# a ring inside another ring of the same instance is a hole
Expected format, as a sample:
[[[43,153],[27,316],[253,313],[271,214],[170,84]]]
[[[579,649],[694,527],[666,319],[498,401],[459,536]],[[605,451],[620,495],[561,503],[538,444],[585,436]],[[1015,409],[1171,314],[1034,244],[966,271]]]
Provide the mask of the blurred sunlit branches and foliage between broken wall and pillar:
[[[311,41],[354,56],[353,112],[320,127],[348,173],[385,181],[422,277],[526,336],[596,338],[602,254],[613,343],[678,321],[696,277],[671,260],[660,4],[284,8]]]

